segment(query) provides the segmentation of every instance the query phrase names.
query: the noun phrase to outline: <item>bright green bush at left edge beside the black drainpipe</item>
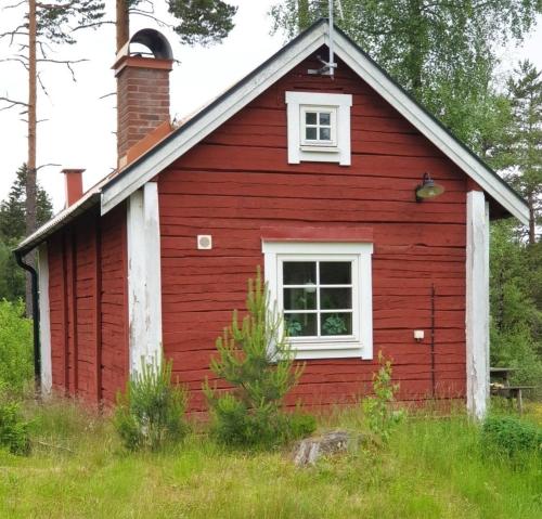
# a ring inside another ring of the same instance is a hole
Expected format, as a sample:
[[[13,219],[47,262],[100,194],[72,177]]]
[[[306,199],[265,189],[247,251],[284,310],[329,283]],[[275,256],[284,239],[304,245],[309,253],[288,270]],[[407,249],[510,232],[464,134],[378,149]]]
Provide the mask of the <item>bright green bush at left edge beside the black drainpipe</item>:
[[[0,385],[21,394],[33,379],[33,325],[21,300],[0,300]]]

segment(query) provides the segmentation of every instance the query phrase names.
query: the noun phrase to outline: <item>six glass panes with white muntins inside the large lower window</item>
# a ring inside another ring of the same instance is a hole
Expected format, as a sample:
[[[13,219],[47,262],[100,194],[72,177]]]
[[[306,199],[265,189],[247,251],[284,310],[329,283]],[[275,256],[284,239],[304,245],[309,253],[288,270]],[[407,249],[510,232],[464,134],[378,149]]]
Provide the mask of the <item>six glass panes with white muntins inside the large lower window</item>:
[[[282,261],[284,326],[289,337],[353,336],[350,261]]]

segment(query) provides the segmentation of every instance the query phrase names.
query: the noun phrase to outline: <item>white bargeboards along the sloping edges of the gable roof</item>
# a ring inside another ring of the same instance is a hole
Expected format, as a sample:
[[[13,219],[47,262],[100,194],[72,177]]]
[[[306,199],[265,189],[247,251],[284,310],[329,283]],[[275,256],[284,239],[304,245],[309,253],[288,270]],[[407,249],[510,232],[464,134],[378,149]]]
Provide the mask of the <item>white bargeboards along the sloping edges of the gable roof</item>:
[[[105,215],[128,198],[324,44],[330,46],[328,23],[320,20],[118,174],[100,183],[101,213]],[[346,65],[483,191],[521,223],[528,223],[526,202],[337,27],[333,33],[333,47],[335,54]],[[69,213],[72,207],[55,217],[54,220],[59,220],[55,229],[63,224],[66,220],[64,213]],[[28,236],[17,250],[30,250],[47,237],[46,233],[49,235],[54,232],[51,223]]]

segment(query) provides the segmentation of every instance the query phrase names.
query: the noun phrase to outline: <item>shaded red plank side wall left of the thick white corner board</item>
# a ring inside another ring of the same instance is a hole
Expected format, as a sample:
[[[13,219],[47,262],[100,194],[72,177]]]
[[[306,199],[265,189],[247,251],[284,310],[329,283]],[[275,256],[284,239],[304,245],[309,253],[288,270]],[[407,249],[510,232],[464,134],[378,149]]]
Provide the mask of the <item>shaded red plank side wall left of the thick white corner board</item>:
[[[119,207],[49,241],[53,387],[93,402],[113,402],[128,373],[124,234]]]

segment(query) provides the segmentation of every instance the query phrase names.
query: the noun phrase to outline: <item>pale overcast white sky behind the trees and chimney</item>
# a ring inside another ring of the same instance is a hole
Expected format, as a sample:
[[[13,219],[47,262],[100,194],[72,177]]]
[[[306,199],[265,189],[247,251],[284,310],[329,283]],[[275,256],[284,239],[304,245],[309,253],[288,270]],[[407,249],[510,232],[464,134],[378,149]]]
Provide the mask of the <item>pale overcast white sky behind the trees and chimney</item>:
[[[0,33],[18,23],[17,12],[7,10],[13,0],[0,0]],[[112,9],[114,2],[106,2]],[[157,2],[156,2],[157,3]],[[237,4],[235,28],[223,43],[210,48],[183,47],[167,27],[146,17],[133,16],[131,34],[144,27],[163,31],[178,63],[170,76],[171,116],[182,118],[207,104],[243,78],[284,43],[282,35],[270,35],[270,7],[276,0],[231,0]],[[18,12],[21,13],[21,11]],[[167,18],[166,13],[157,12]],[[109,20],[112,16],[109,17]],[[16,53],[7,39],[0,40],[0,59]],[[38,99],[38,180],[52,196],[55,211],[64,206],[62,168],[83,168],[83,187],[107,174],[116,164],[116,99],[111,66],[115,60],[115,33],[111,25],[81,31],[75,46],[64,46],[56,59],[86,59],[74,66],[76,81],[63,65],[44,64],[41,79],[48,91]],[[542,68],[542,16],[537,30],[520,48],[502,52],[502,72],[518,60],[530,59]],[[0,63],[0,96],[24,101],[27,95],[25,70],[15,62]],[[105,98],[103,98],[105,95]],[[26,125],[20,109],[0,112],[0,199],[10,190],[15,171],[26,157]]]

